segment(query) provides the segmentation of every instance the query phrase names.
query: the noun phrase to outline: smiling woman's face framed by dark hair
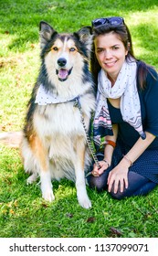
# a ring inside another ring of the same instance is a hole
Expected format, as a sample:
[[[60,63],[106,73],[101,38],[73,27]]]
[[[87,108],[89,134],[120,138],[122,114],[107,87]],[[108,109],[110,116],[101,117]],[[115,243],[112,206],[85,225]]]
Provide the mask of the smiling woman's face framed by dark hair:
[[[100,35],[94,40],[95,54],[100,67],[111,80],[116,80],[128,51],[116,33]]]

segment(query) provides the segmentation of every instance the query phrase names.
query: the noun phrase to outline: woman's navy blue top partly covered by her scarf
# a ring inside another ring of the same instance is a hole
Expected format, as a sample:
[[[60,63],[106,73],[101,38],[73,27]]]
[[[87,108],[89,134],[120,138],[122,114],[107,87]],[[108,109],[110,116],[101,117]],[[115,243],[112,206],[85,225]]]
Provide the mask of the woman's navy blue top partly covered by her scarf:
[[[156,138],[149,145],[148,149],[158,149],[158,74],[152,68],[149,69],[146,78],[146,87],[144,90],[138,89],[143,131],[153,133]],[[136,143],[140,134],[129,124],[122,120],[121,110],[115,108],[108,101],[111,122],[118,123],[119,135],[124,144],[130,147]]]

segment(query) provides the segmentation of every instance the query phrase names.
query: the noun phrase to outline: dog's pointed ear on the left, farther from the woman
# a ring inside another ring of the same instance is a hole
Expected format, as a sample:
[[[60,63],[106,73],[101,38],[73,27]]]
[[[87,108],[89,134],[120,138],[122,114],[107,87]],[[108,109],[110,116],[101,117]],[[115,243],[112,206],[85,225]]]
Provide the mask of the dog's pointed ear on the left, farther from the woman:
[[[58,32],[49,24],[47,24],[47,22],[41,21],[39,23],[40,47],[44,48],[47,42],[53,36],[53,34],[57,34],[57,33]]]

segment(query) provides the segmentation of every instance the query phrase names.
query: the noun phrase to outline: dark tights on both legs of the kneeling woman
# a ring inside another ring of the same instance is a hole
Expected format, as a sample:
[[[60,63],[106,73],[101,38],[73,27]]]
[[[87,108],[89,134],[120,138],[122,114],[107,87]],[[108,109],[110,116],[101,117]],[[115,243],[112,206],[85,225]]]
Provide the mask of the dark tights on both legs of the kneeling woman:
[[[87,181],[91,188],[97,189],[97,191],[103,191],[107,190],[107,179],[109,176],[109,173],[111,171],[111,168],[109,170],[106,170],[101,176],[88,176]],[[153,190],[154,187],[156,187],[156,183],[150,181],[148,178],[141,176],[135,172],[129,171],[128,173],[128,181],[129,181],[129,187],[124,188],[124,191],[121,192],[120,188],[118,189],[118,192],[115,194],[113,192],[113,187],[111,189],[111,197],[114,197],[116,199],[122,199],[124,197],[132,197],[132,196],[145,196],[150,191]]]

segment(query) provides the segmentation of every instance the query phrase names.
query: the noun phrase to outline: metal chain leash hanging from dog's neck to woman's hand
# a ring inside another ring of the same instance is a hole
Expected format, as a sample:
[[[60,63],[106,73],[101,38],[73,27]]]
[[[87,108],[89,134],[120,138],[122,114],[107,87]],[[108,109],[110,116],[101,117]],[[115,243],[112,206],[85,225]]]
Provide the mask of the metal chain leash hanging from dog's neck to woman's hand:
[[[83,128],[84,128],[84,132],[86,134],[86,142],[89,146],[89,149],[90,149],[90,154],[95,162],[95,164],[98,166],[98,168],[100,169],[100,163],[99,163],[99,160],[97,158],[97,155],[95,154],[95,151],[94,151],[94,148],[91,144],[91,141],[90,141],[90,136],[89,136],[89,133],[87,131],[87,128],[86,128],[86,123],[84,121],[84,117],[83,117],[83,112],[82,112],[82,109],[81,109],[81,104],[80,104],[80,101],[79,101],[79,96],[76,97],[75,99],[75,103],[74,103],[74,106],[75,107],[78,107],[79,108],[79,112],[80,112],[80,119],[81,119],[81,123],[83,124]],[[90,176],[91,172],[87,174],[87,176]],[[86,176],[86,177],[87,177]]]

